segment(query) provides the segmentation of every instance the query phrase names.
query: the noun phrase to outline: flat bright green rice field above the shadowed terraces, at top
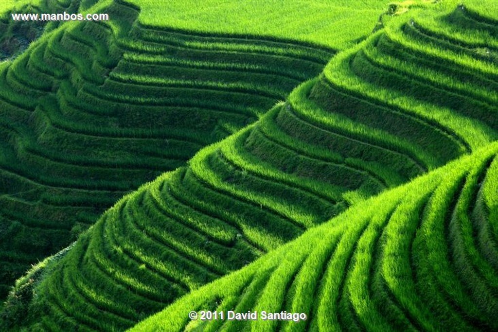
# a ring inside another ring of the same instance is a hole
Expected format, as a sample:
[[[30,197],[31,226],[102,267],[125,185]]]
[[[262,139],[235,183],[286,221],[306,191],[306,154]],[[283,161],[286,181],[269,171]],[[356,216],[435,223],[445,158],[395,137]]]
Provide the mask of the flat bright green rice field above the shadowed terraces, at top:
[[[246,1],[160,2],[129,0],[143,12],[141,24],[185,31],[208,32],[210,35],[235,34],[294,39],[333,49],[350,46],[367,36],[386,1],[302,1],[266,3]],[[168,13],[167,15],[165,13]],[[345,28],[347,27],[347,28]]]

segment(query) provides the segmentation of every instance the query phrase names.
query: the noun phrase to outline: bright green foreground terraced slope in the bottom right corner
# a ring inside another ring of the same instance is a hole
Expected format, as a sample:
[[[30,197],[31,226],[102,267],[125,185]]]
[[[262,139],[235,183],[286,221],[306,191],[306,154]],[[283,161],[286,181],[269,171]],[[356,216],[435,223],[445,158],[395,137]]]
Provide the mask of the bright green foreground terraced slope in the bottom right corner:
[[[495,331],[497,153],[490,144],[362,202],[130,331]]]

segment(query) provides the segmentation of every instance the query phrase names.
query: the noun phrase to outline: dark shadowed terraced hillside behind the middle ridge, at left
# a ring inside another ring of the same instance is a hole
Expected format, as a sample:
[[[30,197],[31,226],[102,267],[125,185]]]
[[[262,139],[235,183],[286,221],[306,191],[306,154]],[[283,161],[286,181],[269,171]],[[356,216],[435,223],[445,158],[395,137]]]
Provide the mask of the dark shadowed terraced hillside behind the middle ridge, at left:
[[[61,24],[1,64],[0,298],[124,194],[255,121],[333,54],[143,26],[121,1],[92,8],[111,20]]]

